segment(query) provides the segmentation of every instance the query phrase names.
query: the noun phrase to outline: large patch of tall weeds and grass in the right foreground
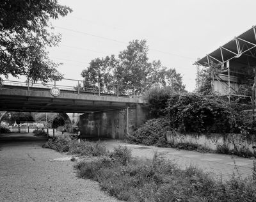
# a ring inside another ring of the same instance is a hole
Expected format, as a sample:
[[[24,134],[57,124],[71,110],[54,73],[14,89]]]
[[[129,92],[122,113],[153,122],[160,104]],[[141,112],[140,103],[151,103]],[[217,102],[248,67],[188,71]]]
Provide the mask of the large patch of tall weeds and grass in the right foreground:
[[[231,202],[256,199],[253,178],[242,180],[234,174],[223,182],[193,166],[179,169],[173,162],[157,155],[153,160],[131,158],[123,164],[127,156],[126,148],[118,148],[110,157],[79,162],[76,165],[77,175],[98,181],[103,190],[124,201]]]

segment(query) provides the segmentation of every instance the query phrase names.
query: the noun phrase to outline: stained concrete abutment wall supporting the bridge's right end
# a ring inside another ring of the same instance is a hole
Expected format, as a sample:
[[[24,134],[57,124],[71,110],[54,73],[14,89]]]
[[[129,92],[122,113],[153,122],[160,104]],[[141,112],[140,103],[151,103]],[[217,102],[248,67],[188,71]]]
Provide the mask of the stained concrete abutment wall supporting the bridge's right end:
[[[130,107],[128,132],[131,134],[148,119],[147,109],[136,105]],[[109,137],[123,139],[127,134],[127,108],[103,111],[99,113],[86,113],[80,116],[80,133],[86,137]]]

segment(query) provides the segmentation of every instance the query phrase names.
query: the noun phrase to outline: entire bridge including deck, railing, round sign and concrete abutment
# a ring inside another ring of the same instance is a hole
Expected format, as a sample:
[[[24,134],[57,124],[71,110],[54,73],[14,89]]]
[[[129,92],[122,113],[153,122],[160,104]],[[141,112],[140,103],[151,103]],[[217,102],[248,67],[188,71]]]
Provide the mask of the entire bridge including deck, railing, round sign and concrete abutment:
[[[143,104],[147,103],[143,97],[146,89],[73,79],[63,81],[74,83],[64,86],[58,82],[31,84],[3,81],[0,112],[59,113],[64,114],[71,125],[67,113],[82,113],[79,127],[84,138],[102,136],[122,139],[124,134],[131,133],[147,120],[147,109],[143,108]]]

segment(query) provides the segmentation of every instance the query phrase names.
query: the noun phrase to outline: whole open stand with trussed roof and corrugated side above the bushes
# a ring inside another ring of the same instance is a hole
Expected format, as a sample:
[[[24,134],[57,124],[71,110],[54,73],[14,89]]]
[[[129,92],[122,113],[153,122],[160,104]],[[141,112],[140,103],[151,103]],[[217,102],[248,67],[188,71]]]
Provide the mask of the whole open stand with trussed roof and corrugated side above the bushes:
[[[256,26],[207,54],[194,63],[197,66],[196,85],[200,85],[200,66],[216,66],[212,72],[212,86],[218,95],[250,97],[239,95],[239,86],[256,82]],[[253,105],[254,106],[254,105]]]

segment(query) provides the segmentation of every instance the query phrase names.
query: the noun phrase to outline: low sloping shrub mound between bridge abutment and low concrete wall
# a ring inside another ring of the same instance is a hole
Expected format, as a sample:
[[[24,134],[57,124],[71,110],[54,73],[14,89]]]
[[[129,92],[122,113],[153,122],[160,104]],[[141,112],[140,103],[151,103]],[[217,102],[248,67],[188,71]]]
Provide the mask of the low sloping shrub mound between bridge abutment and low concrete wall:
[[[163,145],[166,143],[166,131],[169,121],[167,118],[157,118],[148,120],[143,126],[138,128],[131,136],[127,136],[128,141],[142,143],[146,145]]]

